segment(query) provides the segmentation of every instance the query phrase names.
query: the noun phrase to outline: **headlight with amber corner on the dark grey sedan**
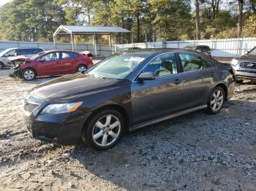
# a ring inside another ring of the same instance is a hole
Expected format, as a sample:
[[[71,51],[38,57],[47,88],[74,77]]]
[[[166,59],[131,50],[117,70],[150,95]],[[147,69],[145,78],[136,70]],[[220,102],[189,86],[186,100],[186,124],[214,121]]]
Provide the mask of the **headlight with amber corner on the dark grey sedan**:
[[[83,102],[69,104],[50,104],[42,110],[41,114],[64,114],[74,112]]]

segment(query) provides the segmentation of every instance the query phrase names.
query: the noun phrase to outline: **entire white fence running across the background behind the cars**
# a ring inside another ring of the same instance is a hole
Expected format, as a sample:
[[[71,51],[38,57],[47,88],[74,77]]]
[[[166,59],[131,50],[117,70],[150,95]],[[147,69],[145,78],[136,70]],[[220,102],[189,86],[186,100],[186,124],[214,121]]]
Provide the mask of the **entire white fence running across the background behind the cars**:
[[[208,45],[213,49],[214,57],[237,57],[244,54],[246,50],[250,50],[256,46],[256,38],[241,39],[210,39],[210,40],[187,40],[187,41],[168,41],[168,42],[143,42],[133,44],[118,44],[116,50],[128,47],[140,48],[183,48],[187,45]],[[45,50],[64,49],[72,50],[70,43],[58,43],[56,46],[53,42],[10,42],[0,41],[0,52],[12,47],[42,47]],[[89,50],[95,55],[94,46],[91,44],[77,44],[78,52]],[[97,44],[97,54],[99,56],[108,56],[113,53],[114,47],[108,45]]]

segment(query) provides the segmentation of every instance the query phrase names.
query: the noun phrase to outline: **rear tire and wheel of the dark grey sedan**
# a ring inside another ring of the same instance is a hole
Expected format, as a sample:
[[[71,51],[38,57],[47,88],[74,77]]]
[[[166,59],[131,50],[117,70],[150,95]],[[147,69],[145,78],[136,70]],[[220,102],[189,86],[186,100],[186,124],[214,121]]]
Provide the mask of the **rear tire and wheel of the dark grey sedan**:
[[[210,96],[207,101],[207,112],[209,114],[217,114],[222,109],[222,106],[225,101],[225,92],[222,87],[214,87],[214,90],[211,91]]]

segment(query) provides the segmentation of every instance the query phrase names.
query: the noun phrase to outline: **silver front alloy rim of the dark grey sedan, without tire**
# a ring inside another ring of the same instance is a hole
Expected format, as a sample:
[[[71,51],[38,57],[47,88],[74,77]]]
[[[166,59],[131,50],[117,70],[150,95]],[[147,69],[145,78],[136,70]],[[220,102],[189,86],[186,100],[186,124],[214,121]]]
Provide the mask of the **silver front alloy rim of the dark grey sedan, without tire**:
[[[113,114],[105,115],[94,124],[92,138],[95,144],[106,147],[118,139],[121,133],[121,122]]]

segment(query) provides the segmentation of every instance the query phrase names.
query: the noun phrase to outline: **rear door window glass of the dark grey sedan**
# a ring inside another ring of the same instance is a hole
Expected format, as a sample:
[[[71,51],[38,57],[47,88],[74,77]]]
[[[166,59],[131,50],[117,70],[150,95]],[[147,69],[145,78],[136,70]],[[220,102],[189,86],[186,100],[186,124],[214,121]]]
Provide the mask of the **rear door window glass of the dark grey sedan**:
[[[184,72],[210,69],[214,67],[200,55],[196,55],[191,52],[180,52],[178,55],[181,59],[182,70]]]

